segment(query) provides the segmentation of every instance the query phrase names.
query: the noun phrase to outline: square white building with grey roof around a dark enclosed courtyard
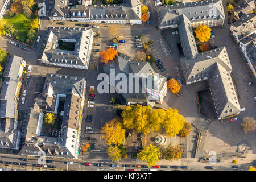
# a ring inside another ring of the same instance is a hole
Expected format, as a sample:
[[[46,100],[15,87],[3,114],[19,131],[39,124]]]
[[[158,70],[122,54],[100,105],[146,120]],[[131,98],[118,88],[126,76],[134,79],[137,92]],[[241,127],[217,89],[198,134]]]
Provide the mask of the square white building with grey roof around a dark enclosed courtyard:
[[[48,28],[47,43],[39,61],[57,67],[88,69],[93,37],[91,28]]]

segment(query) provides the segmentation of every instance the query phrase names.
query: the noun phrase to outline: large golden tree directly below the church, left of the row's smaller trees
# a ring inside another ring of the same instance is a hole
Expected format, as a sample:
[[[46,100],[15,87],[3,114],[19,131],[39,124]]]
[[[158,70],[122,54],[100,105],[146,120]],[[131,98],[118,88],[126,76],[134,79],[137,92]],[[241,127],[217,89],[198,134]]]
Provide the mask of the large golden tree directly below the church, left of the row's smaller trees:
[[[123,126],[127,129],[136,129],[138,133],[150,133],[151,107],[142,105],[125,106],[122,112]]]

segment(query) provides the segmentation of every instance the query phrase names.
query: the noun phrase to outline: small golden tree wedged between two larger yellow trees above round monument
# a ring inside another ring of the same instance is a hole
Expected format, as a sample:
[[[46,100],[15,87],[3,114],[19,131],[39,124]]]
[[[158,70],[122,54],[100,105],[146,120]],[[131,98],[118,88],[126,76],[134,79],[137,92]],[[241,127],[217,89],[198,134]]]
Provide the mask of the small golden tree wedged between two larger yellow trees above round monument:
[[[153,110],[150,115],[150,128],[159,131],[162,128],[163,121],[166,119],[166,111],[163,109]]]

